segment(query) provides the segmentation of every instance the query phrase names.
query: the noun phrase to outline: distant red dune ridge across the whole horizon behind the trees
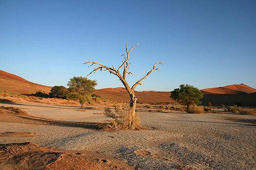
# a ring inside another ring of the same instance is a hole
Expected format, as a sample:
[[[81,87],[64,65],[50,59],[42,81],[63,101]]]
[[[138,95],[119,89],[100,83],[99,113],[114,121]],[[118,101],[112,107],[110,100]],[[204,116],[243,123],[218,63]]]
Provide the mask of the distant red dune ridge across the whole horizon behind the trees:
[[[37,91],[49,93],[52,87],[29,82],[19,76],[0,70],[0,90],[21,94],[31,94]],[[224,87],[202,89],[205,94],[204,105],[211,102],[214,105],[241,103],[244,106],[256,105],[256,89],[245,84],[234,84]],[[95,94],[117,102],[128,102],[129,95],[123,87],[103,88],[94,91]],[[161,103],[172,101],[169,91],[136,91],[139,103]]]

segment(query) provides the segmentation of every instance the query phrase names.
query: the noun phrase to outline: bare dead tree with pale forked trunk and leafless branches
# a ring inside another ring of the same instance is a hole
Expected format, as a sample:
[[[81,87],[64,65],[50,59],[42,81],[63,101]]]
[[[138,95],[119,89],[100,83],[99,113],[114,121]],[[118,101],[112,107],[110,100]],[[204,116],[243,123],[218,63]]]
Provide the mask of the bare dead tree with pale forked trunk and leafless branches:
[[[134,125],[134,120],[135,120],[135,109],[136,109],[136,103],[137,103],[137,100],[138,98],[136,97],[135,95],[135,88],[138,86],[138,85],[142,85],[144,84],[142,81],[147,78],[148,76],[150,76],[150,74],[155,71],[155,70],[158,70],[158,68],[156,68],[156,65],[157,64],[163,64],[163,62],[156,62],[154,65],[153,65],[153,68],[147,72],[147,74],[141,78],[140,80],[138,80],[132,87],[126,82],[126,74],[129,74],[129,75],[134,75],[131,71],[127,71],[127,69],[129,68],[130,64],[129,63],[129,60],[130,60],[130,53],[138,46],[139,44],[137,45],[134,45],[131,49],[128,49],[128,46],[127,44],[125,45],[125,52],[126,52],[126,55],[122,55],[124,57],[124,61],[122,62],[122,64],[116,69],[114,66],[112,67],[108,67],[108,66],[105,66],[99,62],[95,62],[95,61],[85,61],[83,64],[91,64],[89,65],[88,67],[90,66],[93,66],[94,64],[97,65],[96,68],[94,68],[89,75],[93,74],[94,72],[96,72],[97,70],[104,70],[104,71],[109,71],[110,74],[113,74],[113,75],[116,75],[119,80],[122,82],[122,84],[124,85],[125,89],[127,90],[127,92],[129,93],[129,96],[130,96],[130,115],[129,115],[129,118],[130,118],[130,129],[135,129],[135,125]],[[123,69],[122,73],[120,72],[120,70]],[[89,76],[87,75],[87,76]]]

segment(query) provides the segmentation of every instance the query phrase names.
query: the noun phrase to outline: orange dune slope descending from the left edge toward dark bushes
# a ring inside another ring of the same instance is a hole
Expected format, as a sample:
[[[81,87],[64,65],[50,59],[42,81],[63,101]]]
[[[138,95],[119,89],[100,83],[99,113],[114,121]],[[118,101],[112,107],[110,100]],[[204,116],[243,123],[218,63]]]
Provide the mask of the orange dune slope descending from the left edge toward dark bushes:
[[[31,94],[37,91],[49,93],[52,87],[29,82],[19,76],[0,70],[0,90]]]

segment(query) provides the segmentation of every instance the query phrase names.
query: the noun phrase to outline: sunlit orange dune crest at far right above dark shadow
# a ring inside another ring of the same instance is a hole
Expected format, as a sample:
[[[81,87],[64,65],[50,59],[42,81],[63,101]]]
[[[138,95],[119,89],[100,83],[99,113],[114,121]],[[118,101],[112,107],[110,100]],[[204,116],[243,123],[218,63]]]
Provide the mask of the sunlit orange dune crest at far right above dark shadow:
[[[256,89],[245,84],[234,84],[224,87],[205,88],[202,91],[205,94],[238,94],[243,92],[250,94],[256,92]]]

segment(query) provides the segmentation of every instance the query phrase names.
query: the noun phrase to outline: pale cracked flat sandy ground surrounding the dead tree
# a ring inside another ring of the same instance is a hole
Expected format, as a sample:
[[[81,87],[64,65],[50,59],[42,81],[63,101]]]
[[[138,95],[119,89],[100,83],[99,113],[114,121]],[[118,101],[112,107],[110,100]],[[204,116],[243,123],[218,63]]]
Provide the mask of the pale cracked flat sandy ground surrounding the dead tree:
[[[104,122],[101,110],[46,104],[0,104],[30,115],[69,122]],[[30,132],[32,137],[0,137],[0,143],[33,142],[42,147],[89,150],[141,169],[254,169],[255,120],[252,115],[140,112],[153,130],[102,131],[72,125],[1,122],[0,133]],[[35,121],[36,122],[36,121]]]

